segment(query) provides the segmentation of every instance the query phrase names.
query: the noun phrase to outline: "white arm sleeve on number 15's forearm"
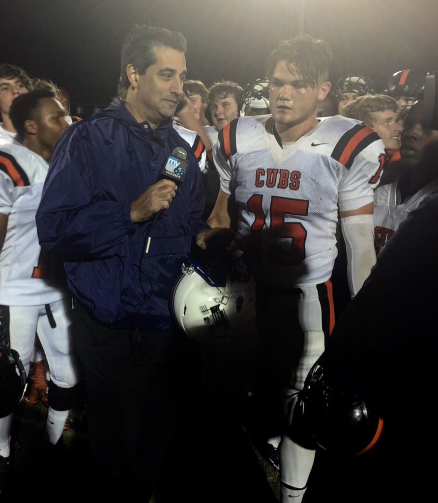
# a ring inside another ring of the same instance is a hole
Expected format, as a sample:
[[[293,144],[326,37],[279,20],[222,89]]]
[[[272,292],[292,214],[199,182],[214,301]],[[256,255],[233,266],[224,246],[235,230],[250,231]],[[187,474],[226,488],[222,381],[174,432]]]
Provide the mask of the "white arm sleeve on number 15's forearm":
[[[373,215],[341,218],[341,228],[347,250],[348,286],[354,297],[376,263]]]

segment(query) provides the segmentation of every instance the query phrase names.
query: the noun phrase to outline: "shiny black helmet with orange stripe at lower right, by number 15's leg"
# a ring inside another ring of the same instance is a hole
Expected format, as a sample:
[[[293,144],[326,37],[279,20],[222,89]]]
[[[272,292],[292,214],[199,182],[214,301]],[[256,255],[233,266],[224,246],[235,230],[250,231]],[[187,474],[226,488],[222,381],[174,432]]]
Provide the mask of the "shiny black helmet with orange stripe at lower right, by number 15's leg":
[[[304,421],[323,449],[363,454],[379,439],[383,420],[370,400],[333,385],[320,362],[310,370],[302,392]]]

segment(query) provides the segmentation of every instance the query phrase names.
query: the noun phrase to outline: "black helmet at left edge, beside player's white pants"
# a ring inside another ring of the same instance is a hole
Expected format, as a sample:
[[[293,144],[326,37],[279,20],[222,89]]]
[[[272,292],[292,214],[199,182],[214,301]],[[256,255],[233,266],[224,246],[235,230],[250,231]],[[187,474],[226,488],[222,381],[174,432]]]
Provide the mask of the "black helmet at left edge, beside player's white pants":
[[[26,372],[20,355],[9,348],[7,330],[0,314],[0,417],[11,414],[26,391]]]

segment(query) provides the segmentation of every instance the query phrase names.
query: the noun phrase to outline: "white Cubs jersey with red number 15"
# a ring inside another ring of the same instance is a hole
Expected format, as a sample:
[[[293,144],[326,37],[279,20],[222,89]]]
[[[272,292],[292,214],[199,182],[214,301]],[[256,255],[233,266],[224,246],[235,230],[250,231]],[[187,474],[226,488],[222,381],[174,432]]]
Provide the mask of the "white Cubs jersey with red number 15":
[[[385,160],[377,133],[342,116],[283,145],[270,115],[240,117],[219,133],[213,155],[221,189],[239,208],[252,275],[277,288],[330,278],[338,205],[373,202]]]

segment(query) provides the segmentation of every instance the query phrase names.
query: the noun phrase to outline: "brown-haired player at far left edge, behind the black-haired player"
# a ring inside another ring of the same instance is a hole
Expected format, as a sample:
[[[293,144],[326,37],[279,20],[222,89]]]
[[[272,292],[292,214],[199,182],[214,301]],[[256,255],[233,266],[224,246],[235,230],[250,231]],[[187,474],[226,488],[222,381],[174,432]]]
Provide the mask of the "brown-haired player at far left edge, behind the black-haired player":
[[[28,93],[32,89],[27,73],[13,64],[0,64],[0,145],[19,145],[16,139],[17,131],[9,117],[11,104],[18,95]]]

